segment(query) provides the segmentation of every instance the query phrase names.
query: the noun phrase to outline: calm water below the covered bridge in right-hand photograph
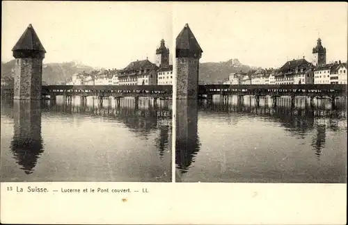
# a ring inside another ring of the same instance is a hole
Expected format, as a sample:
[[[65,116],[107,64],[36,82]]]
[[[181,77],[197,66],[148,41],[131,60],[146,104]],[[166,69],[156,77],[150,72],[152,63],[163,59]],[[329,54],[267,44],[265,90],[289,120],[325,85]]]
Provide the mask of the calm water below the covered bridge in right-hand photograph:
[[[347,100],[177,101],[178,182],[346,183]]]

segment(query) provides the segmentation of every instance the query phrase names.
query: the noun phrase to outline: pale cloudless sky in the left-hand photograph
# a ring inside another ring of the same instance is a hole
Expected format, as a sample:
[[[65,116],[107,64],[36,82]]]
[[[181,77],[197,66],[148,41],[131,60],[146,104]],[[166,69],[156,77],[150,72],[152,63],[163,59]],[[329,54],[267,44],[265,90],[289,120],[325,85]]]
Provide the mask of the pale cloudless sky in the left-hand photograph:
[[[93,1],[2,1],[1,61],[32,24],[47,53],[44,63],[76,60],[105,69],[131,61],[155,63],[163,38],[171,51],[171,3]]]

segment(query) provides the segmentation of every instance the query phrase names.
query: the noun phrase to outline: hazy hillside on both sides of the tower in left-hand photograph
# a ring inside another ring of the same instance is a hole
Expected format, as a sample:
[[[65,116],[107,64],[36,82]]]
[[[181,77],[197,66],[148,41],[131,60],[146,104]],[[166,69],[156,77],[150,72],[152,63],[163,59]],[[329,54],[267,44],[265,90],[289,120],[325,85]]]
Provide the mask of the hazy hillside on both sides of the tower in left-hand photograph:
[[[13,77],[13,68],[15,67],[15,60],[10,60],[8,63],[1,62],[1,76]],[[93,67],[81,65],[76,62],[68,63],[44,63],[42,66],[42,81],[49,85],[60,84],[65,82],[72,74],[79,72],[89,73]]]

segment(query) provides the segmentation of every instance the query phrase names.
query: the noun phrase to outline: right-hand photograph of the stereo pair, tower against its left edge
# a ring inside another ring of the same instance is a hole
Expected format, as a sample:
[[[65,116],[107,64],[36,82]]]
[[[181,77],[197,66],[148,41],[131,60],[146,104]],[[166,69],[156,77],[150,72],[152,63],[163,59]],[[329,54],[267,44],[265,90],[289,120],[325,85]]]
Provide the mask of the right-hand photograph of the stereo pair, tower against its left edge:
[[[347,183],[347,4],[173,8],[176,182]]]

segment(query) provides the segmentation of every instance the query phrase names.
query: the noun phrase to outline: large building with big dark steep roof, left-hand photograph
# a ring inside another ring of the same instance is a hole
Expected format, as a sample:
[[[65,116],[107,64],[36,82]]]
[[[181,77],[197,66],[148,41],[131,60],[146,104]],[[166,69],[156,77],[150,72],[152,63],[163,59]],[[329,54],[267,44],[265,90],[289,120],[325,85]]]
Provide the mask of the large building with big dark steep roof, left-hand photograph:
[[[119,71],[119,85],[157,85],[158,67],[148,59],[136,60]]]

